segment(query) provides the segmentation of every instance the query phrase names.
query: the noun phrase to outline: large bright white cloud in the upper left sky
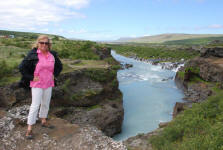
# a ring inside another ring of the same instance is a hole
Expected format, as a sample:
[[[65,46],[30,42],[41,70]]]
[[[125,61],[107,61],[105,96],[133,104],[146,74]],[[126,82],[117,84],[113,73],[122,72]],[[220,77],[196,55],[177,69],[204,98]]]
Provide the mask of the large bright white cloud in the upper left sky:
[[[89,0],[6,0],[0,4],[0,28],[34,29],[70,18],[85,18],[75,9],[86,7]],[[69,6],[71,8],[66,8]]]

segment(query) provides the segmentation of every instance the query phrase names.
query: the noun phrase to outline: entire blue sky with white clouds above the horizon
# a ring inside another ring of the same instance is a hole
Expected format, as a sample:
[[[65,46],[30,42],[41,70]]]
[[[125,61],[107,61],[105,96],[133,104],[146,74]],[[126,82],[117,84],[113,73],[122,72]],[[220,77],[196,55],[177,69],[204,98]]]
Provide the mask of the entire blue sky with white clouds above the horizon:
[[[93,41],[223,34],[223,0],[0,0],[0,30]]]

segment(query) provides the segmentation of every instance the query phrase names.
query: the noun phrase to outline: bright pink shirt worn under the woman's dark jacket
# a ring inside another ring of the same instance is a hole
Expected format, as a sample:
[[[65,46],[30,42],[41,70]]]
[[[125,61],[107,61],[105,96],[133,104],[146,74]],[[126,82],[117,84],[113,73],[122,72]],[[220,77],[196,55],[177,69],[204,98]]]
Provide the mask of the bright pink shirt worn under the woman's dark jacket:
[[[30,87],[49,88],[54,87],[53,71],[55,59],[51,53],[45,56],[41,50],[37,50],[39,62],[36,64],[34,76],[39,77],[39,81],[30,81]]]

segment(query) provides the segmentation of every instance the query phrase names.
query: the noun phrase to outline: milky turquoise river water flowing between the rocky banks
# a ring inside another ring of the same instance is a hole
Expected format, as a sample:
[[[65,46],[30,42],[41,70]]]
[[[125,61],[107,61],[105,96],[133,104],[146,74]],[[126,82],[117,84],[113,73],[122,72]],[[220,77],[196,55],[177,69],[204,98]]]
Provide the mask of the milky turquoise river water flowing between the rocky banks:
[[[160,122],[172,119],[173,107],[182,101],[183,92],[173,79],[176,71],[140,62],[111,52],[119,62],[133,64],[132,68],[119,70],[119,89],[123,93],[124,121],[122,133],[113,137],[125,140],[139,133],[158,128]]]

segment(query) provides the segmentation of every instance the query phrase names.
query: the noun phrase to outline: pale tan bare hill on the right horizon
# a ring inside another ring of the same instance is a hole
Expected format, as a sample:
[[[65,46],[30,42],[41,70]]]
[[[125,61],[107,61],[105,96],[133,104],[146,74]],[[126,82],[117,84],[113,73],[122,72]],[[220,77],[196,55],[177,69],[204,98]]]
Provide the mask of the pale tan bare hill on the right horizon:
[[[163,43],[167,41],[186,40],[194,38],[223,37],[223,34],[160,34],[144,36],[138,38],[120,38],[114,42],[133,42],[133,43]]]

